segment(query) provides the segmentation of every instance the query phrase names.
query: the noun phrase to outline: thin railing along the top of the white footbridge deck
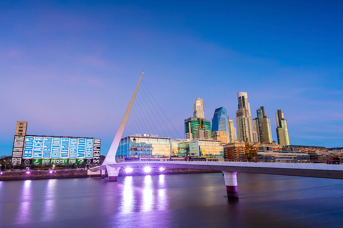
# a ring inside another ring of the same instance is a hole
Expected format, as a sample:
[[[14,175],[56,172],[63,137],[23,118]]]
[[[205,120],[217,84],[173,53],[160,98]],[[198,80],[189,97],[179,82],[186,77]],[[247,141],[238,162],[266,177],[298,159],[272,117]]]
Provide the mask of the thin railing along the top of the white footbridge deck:
[[[168,158],[159,158],[159,159],[153,159],[153,158],[146,158],[146,159],[140,159],[140,160],[130,160],[130,161],[117,161],[117,163],[125,163],[125,162],[135,162],[135,161],[141,161],[141,162],[157,162],[157,161],[207,161],[207,162],[263,162],[263,163],[318,163],[318,164],[343,164],[343,161],[337,160],[301,160],[301,159],[259,159],[259,160],[241,160],[241,159],[168,159]]]

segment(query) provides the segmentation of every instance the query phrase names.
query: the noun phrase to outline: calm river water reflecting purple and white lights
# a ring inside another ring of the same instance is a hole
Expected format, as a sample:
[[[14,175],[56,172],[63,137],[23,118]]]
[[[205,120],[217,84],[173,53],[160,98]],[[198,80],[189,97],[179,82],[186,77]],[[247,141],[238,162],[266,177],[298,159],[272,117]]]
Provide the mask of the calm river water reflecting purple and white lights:
[[[343,227],[343,180],[221,173],[0,181],[0,227]]]

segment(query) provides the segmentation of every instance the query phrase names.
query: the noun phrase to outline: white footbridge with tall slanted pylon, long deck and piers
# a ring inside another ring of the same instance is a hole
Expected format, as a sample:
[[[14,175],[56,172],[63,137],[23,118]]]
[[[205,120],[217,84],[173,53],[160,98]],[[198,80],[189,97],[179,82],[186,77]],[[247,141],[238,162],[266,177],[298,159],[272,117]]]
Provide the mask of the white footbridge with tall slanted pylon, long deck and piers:
[[[116,181],[121,167],[151,166],[166,168],[193,168],[217,170],[224,174],[228,198],[238,198],[237,172],[260,173],[274,175],[289,175],[303,177],[319,177],[343,179],[343,165],[335,164],[307,164],[307,163],[249,163],[249,162],[214,162],[214,161],[126,161],[116,162],[116,153],[124,132],[131,108],[136,97],[143,73],[138,81],[126,112],[120,122],[117,133],[109,148],[102,165],[91,168],[91,171],[101,170],[101,178],[105,178],[107,170],[109,181]],[[143,82],[144,84],[144,82]],[[139,97],[138,97],[139,98]],[[156,110],[157,111],[157,110]],[[134,111],[133,111],[134,112]],[[129,121],[130,123],[130,121]]]

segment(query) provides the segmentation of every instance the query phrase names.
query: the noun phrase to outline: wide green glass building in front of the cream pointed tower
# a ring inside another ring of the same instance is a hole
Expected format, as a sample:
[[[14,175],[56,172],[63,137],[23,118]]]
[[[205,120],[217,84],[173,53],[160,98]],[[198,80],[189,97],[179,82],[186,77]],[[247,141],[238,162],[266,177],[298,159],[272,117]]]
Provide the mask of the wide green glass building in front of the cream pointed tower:
[[[211,138],[211,123],[207,119],[189,117],[185,119],[186,139]]]

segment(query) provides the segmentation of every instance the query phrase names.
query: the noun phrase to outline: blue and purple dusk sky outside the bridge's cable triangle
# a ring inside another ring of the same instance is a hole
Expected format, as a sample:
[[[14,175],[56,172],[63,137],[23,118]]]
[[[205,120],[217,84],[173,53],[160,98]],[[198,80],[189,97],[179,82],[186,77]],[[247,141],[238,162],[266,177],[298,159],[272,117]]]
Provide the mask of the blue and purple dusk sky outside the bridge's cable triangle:
[[[275,113],[293,145],[343,147],[341,1],[1,1],[0,155],[27,134],[94,137],[106,155],[141,72],[171,123],[203,99]],[[155,132],[149,132],[156,134]]]

